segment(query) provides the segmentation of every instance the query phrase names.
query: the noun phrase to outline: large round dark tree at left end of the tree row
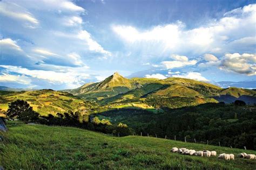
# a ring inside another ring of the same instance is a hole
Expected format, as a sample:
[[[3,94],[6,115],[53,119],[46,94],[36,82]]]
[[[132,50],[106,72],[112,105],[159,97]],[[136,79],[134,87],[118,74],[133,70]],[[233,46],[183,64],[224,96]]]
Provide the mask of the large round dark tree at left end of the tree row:
[[[30,122],[38,119],[39,114],[33,111],[29,103],[23,100],[17,100],[9,104],[6,116],[10,119],[19,119],[21,121]]]

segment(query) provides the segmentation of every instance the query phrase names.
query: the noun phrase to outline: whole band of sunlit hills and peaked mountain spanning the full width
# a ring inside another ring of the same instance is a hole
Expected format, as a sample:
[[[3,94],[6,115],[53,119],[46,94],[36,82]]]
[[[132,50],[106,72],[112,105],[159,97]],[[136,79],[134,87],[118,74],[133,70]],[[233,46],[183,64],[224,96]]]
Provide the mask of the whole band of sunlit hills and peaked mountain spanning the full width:
[[[0,87],[0,114],[8,103],[22,99],[41,115],[65,111],[83,114],[101,112],[111,108],[140,108],[158,111],[161,108],[181,108],[203,103],[256,103],[256,91],[243,88],[221,88],[214,84],[191,79],[169,77],[127,79],[118,73],[101,82],[86,83],[76,89],[54,91],[50,89],[15,89]],[[94,108],[94,109],[93,109]],[[90,113],[89,113],[89,112]]]

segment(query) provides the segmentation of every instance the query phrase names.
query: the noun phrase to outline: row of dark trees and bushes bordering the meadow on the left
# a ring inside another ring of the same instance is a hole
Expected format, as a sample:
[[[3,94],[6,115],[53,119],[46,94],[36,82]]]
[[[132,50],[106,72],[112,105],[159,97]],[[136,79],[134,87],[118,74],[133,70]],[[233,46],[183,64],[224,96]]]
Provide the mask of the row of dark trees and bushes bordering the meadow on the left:
[[[119,123],[113,125],[110,121],[106,119],[100,120],[98,117],[94,117],[91,120],[86,119],[84,115],[81,115],[78,111],[68,111],[64,114],[57,113],[56,116],[51,114],[48,116],[39,116],[38,112],[34,111],[29,103],[23,100],[11,102],[6,111],[6,117],[8,119],[18,119],[25,123],[34,122],[45,125],[73,126],[91,131],[112,133],[115,136],[127,136],[132,134],[132,129],[126,124]]]

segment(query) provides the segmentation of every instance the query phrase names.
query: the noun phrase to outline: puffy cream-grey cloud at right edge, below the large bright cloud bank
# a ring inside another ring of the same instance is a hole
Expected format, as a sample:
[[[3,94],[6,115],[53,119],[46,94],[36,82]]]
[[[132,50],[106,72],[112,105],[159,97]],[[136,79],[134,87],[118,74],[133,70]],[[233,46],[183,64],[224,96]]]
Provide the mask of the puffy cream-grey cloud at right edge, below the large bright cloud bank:
[[[256,75],[256,54],[225,54],[219,68],[248,76]]]

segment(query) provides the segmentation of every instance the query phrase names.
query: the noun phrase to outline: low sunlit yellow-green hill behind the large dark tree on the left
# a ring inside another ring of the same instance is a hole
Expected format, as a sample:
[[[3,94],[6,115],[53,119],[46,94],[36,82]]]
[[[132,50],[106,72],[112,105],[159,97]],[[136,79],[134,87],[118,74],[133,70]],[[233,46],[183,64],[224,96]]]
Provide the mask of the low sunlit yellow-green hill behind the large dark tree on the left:
[[[2,93],[0,96],[0,112],[6,111],[8,103],[18,99],[27,101],[33,107],[33,110],[39,112],[41,116],[56,115],[58,112],[64,113],[67,111],[85,112],[95,105],[95,103],[84,101],[69,93],[44,89]]]

